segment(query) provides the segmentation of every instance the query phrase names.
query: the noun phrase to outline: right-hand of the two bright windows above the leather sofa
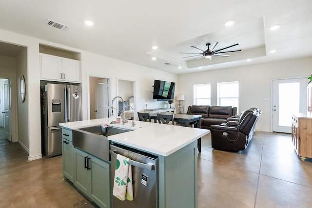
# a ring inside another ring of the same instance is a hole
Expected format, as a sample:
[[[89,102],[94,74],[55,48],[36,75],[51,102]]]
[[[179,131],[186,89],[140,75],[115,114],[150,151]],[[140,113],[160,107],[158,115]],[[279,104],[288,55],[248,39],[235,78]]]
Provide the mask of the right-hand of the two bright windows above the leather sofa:
[[[238,111],[238,98],[239,87],[238,82],[221,82],[217,83],[217,95],[219,106],[232,106],[237,107]]]

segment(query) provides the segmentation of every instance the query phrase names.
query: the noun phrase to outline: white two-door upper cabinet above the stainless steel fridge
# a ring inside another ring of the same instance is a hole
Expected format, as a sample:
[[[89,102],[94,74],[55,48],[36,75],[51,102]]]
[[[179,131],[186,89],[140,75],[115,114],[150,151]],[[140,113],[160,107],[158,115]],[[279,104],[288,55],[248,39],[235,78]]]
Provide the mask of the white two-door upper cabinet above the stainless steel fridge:
[[[40,79],[80,83],[80,61],[40,54]]]

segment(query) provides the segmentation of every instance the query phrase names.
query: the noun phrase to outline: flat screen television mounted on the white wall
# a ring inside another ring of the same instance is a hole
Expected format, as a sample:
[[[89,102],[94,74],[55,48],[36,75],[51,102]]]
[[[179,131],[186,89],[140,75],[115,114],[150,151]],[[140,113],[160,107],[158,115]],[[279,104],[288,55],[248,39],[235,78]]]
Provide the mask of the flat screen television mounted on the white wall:
[[[153,99],[173,100],[175,96],[175,82],[154,80]]]

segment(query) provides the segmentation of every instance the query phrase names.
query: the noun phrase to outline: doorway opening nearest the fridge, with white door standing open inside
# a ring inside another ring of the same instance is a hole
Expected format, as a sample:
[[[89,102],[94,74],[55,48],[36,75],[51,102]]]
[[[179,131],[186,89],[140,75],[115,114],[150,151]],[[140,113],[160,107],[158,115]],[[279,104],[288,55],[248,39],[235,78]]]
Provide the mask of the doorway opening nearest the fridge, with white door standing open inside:
[[[88,82],[88,119],[110,117],[110,78],[88,75]]]

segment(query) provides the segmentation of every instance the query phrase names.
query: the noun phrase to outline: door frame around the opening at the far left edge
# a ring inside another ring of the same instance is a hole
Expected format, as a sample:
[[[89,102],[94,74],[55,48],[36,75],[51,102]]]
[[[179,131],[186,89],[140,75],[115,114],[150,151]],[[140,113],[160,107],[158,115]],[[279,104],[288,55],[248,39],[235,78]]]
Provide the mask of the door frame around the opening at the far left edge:
[[[1,79],[9,79],[11,81],[11,87],[9,88],[9,93],[10,93],[10,102],[11,102],[11,116],[9,117],[9,125],[10,125],[10,138],[11,142],[18,142],[18,129],[17,129],[17,118],[16,118],[16,112],[17,112],[17,102],[18,102],[18,97],[17,93],[12,93],[16,92],[16,80],[14,76],[1,76]],[[4,95],[3,95],[4,96]],[[2,113],[2,112],[1,112]]]

